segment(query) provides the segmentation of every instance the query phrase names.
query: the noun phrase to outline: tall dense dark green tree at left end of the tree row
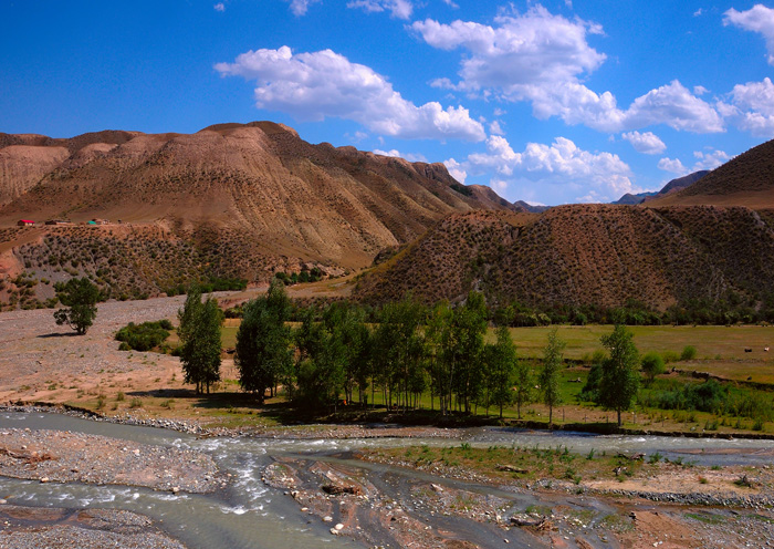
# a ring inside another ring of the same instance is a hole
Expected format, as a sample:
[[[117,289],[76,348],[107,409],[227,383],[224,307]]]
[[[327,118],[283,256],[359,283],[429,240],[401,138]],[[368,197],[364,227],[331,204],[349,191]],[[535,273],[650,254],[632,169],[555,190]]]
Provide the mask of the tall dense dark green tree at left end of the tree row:
[[[273,389],[280,380],[292,392],[292,338],[285,324],[289,318],[290,300],[279,278],[272,280],[265,297],[253,299],[243,308],[234,365],[239,370],[239,384],[261,404],[266,389]]]

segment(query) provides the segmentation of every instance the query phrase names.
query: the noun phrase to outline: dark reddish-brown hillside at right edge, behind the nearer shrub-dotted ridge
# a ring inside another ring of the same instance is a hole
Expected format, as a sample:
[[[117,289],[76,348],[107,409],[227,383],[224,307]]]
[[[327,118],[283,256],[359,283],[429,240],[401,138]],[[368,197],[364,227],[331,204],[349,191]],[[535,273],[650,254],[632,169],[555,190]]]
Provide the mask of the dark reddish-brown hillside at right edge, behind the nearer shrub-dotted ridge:
[[[736,156],[682,190],[648,203],[667,205],[774,208],[774,141]]]

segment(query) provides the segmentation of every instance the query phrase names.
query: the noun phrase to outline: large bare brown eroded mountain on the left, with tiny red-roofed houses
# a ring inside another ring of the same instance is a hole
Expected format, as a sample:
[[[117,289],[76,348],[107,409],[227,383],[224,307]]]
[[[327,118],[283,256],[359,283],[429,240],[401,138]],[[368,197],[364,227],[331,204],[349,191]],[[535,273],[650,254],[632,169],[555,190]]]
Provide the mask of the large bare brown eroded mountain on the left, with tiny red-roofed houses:
[[[0,273],[56,281],[69,269],[129,296],[197,273],[339,273],[450,214],[512,208],[489,188],[460,185],[442,164],[312,145],[272,122],[196,134],[0,134]],[[18,229],[21,218],[114,222]]]

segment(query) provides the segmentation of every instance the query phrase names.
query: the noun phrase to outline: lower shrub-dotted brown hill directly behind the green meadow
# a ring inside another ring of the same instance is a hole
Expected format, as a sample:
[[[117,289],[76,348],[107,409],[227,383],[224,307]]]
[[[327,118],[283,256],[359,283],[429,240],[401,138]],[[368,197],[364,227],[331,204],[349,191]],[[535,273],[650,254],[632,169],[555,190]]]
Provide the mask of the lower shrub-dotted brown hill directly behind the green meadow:
[[[743,207],[557,206],[451,215],[360,277],[367,302],[407,291],[428,302],[483,291],[490,302],[663,310],[726,292],[774,292],[774,216]]]

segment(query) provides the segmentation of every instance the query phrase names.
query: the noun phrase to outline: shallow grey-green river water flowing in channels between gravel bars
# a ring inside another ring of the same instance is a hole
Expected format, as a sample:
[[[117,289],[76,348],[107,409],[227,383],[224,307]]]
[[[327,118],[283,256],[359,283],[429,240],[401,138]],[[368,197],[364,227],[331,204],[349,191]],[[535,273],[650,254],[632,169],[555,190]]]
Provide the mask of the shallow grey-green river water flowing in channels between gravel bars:
[[[471,446],[508,445],[520,447],[567,446],[573,452],[594,449],[626,454],[661,455],[700,465],[763,465],[771,463],[774,443],[771,441],[702,439],[656,436],[600,436],[577,433],[525,432],[482,427],[462,432],[460,438],[369,438],[369,439],[269,439],[269,438],[205,438],[197,439],[172,431],[111,423],[91,422],[59,414],[0,413],[0,428],[60,429],[111,436],[143,444],[195,449],[213,457],[218,466],[231,473],[233,481],[219,493],[209,495],[154,491],[125,486],[85,484],[41,484],[0,477],[0,497],[18,505],[63,508],[119,508],[147,515],[161,521],[163,528],[191,549],[228,547],[233,549],[304,547],[305,549],[363,547],[349,539],[333,537],[330,525],[300,511],[299,505],[282,490],[261,481],[263,468],[273,456],[303,456],[307,459],[344,460],[360,468],[376,486],[387,486],[387,479],[423,479],[461,486],[482,494],[517,501],[520,506],[540,503],[537,495],[511,493],[492,487],[471,486],[431,477],[416,470],[364,464],[343,458],[349,450],[367,447],[408,445],[449,446],[462,442]],[[393,481],[393,486],[400,483]],[[395,489],[395,488],[394,488]],[[545,497],[545,496],[541,496]],[[597,505],[586,500],[585,505]],[[498,541],[502,545],[502,540]],[[498,546],[500,547],[500,546]]]

